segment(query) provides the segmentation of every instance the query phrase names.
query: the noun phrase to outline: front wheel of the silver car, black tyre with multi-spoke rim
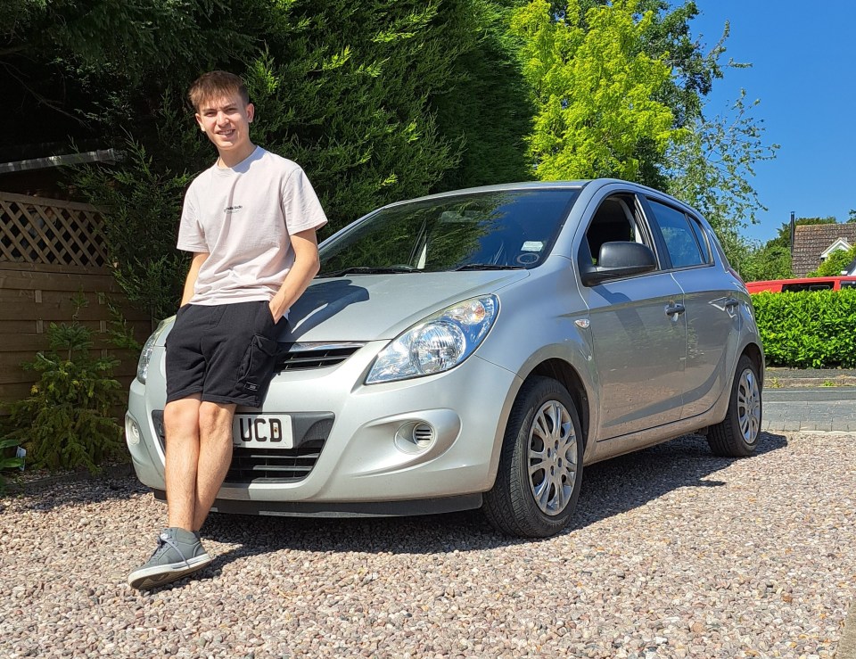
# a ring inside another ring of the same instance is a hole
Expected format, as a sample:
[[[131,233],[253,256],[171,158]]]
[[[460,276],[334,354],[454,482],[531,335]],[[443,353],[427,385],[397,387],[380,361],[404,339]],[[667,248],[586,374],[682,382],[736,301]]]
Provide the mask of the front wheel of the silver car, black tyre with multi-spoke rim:
[[[497,480],[483,510],[498,530],[523,538],[562,531],[580,497],[580,417],[556,380],[531,378],[514,401]]]

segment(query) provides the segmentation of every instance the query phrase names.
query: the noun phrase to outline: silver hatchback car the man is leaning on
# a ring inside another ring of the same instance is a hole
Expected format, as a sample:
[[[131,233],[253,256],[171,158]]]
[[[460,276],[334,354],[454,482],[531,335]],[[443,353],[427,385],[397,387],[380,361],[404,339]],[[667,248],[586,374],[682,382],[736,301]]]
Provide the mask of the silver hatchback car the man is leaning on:
[[[561,531],[585,465],[707,436],[749,456],[764,356],[711,227],[613,179],[394,203],[322,243],[262,408],[238,408],[214,510],[419,515],[481,507]],[[146,343],[126,436],[164,498],[164,340]]]

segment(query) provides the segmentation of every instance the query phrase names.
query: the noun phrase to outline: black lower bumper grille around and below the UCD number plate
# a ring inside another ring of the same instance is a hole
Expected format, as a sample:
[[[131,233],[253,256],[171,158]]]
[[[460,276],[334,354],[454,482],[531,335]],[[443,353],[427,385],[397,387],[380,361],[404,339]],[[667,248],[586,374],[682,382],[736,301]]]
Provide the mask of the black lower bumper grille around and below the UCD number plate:
[[[232,450],[232,463],[226,473],[226,485],[251,483],[298,482],[306,478],[315,467],[327,437],[333,429],[334,416],[330,412],[292,414],[293,449]],[[152,411],[161,449],[165,452],[166,432],[163,410]]]

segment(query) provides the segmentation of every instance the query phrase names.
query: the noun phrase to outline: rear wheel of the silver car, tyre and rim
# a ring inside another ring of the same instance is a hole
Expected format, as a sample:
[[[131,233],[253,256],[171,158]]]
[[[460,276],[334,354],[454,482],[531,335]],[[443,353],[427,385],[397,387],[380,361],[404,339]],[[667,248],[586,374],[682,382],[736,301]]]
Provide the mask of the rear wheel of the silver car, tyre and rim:
[[[716,456],[746,457],[758,448],[760,433],[761,382],[758,367],[743,355],[737,362],[737,372],[731,384],[728,414],[720,424],[710,427],[707,443]]]

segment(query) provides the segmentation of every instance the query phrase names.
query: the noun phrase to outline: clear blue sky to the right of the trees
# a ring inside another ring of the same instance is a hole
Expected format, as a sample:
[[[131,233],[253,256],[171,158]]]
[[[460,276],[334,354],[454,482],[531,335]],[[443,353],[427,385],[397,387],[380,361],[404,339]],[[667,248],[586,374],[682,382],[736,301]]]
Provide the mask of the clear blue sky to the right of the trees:
[[[672,4],[678,4],[672,0]],[[690,23],[709,50],[728,21],[731,32],[721,61],[750,62],[725,70],[708,97],[707,113],[721,114],[740,93],[761,99],[753,116],[763,119],[765,141],[781,148],[757,166],[753,185],[769,209],[745,235],[769,240],[788,221],[834,216],[846,221],[856,209],[856,3],[794,0],[696,0],[701,14]]]

